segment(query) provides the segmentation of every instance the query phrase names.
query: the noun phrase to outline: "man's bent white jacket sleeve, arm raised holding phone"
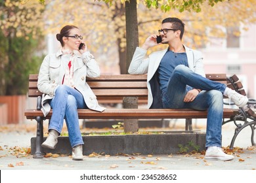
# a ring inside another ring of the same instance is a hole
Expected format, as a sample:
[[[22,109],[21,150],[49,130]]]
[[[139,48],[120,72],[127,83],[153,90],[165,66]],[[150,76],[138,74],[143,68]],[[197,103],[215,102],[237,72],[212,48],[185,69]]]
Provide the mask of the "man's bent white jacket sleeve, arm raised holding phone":
[[[137,47],[133,59],[129,65],[128,73],[131,75],[142,75],[148,73],[149,58],[146,57],[146,50]]]

